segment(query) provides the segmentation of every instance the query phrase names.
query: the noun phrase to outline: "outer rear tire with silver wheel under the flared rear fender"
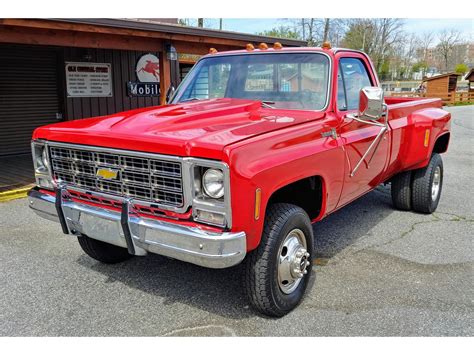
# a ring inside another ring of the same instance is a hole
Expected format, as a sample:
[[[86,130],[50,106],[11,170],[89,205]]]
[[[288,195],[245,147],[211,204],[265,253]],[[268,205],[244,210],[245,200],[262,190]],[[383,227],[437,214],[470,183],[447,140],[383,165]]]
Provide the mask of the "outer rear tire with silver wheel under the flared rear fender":
[[[415,170],[412,184],[413,210],[433,213],[438,207],[443,187],[443,160],[434,153],[428,166]]]

